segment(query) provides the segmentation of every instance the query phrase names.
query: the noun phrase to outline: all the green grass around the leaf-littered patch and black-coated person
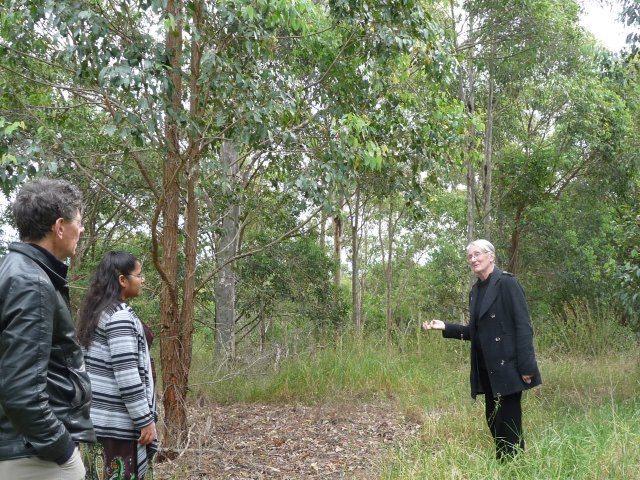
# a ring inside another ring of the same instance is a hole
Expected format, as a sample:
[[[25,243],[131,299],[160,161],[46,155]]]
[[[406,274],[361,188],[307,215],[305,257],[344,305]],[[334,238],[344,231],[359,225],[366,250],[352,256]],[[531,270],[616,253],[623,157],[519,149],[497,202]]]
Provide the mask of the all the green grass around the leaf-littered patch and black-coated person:
[[[494,459],[484,401],[469,396],[468,344],[416,335],[402,347],[338,339],[230,374],[194,357],[192,391],[219,403],[387,399],[422,425],[382,465],[384,479],[640,479],[640,353],[539,352],[543,385],[523,399],[526,452]]]

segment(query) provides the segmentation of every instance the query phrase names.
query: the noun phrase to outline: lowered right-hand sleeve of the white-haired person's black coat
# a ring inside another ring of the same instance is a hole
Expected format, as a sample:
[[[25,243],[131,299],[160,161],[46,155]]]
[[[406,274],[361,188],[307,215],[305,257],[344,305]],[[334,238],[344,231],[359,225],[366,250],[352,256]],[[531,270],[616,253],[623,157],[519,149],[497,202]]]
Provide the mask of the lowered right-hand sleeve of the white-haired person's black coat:
[[[514,277],[503,277],[505,302],[515,329],[518,373],[534,375],[537,371],[536,356],[533,348],[533,327],[529,317],[529,308],[524,290]]]

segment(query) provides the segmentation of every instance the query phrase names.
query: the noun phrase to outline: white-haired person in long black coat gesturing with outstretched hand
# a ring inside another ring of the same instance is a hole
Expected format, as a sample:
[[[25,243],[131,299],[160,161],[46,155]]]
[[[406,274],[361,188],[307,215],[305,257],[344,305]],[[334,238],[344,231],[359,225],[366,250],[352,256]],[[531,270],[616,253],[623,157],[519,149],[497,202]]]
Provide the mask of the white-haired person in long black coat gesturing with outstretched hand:
[[[533,348],[533,328],[524,291],[512,273],[495,265],[487,240],[467,247],[478,277],[469,294],[469,325],[425,321],[425,330],[471,341],[471,396],[485,396],[485,416],[502,460],[524,449],[522,392],[542,383]]]

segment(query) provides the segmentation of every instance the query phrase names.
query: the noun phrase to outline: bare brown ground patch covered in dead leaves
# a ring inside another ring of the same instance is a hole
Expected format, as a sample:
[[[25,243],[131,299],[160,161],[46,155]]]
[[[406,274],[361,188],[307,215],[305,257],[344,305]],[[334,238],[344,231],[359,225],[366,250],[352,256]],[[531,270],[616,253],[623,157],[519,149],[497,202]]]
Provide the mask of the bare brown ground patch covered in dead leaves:
[[[207,405],[191,409],[189,424],[187,447],[156,464],[157,480],[372,479],[420,430],[393,405],[349,402]]]

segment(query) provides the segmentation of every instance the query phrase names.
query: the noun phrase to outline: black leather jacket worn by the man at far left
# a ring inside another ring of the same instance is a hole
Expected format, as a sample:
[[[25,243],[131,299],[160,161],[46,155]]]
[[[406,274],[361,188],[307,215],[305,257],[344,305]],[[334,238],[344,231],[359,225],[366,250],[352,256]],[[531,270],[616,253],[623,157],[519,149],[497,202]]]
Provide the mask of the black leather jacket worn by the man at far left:
[[[69,289],[53,259],[12,243],[0,264],[0,460],[65,458],[96,440]]]

